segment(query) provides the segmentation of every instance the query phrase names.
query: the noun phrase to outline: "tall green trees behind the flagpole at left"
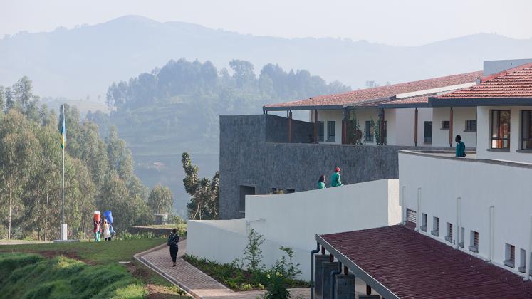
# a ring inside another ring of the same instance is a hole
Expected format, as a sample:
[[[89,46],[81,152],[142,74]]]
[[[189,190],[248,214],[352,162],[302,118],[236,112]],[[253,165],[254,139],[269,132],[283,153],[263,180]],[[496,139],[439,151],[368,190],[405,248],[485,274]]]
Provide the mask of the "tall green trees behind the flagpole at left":
[[[133,174],[124,140],[65,107],[65,216],[69,238],[86,238],[93,211],[113,211],[115,230],[152,221],[149,190]],[[58,238],[61,219],[63,115],[38,106],[31,80],[0,88],[0,238]]]

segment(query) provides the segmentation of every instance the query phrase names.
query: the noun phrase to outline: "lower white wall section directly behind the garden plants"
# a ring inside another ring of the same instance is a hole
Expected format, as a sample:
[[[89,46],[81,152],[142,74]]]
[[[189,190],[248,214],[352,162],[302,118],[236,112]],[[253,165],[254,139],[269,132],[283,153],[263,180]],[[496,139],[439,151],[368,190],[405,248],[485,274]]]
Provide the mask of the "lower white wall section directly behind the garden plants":
[[[202,258],[207,258],[217,263],[231,263],[236,258],[244,257],[247,233],[246,221],[244,219],[225,220],[226,223],[219,225],[219,220],[200,221],[190,220],[187,223],[187,253]],[[236,231],[227,229],[237,228]],[[238,232],[237,232],[238,231]],[[278,258],[284,255],[279,250],[285,244],[266,240],[261,246],[263,253],[263,263],[270,267]],[[311,249],[292,248],[296,254],[294,263],[300,264],[301,276],[303,280],[310,280],[311,276]],[[245,266],[244,262],[244,266]]]

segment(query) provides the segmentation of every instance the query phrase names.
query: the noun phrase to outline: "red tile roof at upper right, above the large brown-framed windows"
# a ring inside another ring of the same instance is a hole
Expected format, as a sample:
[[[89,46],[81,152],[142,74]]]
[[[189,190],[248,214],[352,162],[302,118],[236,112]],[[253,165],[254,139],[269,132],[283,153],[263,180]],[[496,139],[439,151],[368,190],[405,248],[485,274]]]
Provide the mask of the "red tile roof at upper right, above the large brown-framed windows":
[[[532,63],[481,78],[479,85],[436,99],[532,98]]]

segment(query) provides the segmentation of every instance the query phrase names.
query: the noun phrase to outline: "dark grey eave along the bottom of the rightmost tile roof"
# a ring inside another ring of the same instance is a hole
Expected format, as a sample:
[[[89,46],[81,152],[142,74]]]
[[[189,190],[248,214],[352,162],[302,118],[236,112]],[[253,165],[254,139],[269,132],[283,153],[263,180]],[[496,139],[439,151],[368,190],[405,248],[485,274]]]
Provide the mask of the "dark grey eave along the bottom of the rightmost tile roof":
[[[532,98],[434,98],[432,107],[521,106],[532,105]]]

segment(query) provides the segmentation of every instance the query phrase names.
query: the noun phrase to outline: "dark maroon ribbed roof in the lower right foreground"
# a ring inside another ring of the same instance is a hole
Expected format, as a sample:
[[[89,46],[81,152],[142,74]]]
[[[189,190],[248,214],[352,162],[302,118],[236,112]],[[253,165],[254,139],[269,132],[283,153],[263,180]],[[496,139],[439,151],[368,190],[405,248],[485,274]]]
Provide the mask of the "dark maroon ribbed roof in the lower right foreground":
[[[532,281],[405,226],[321,237],[399,298],[532,298]]]

